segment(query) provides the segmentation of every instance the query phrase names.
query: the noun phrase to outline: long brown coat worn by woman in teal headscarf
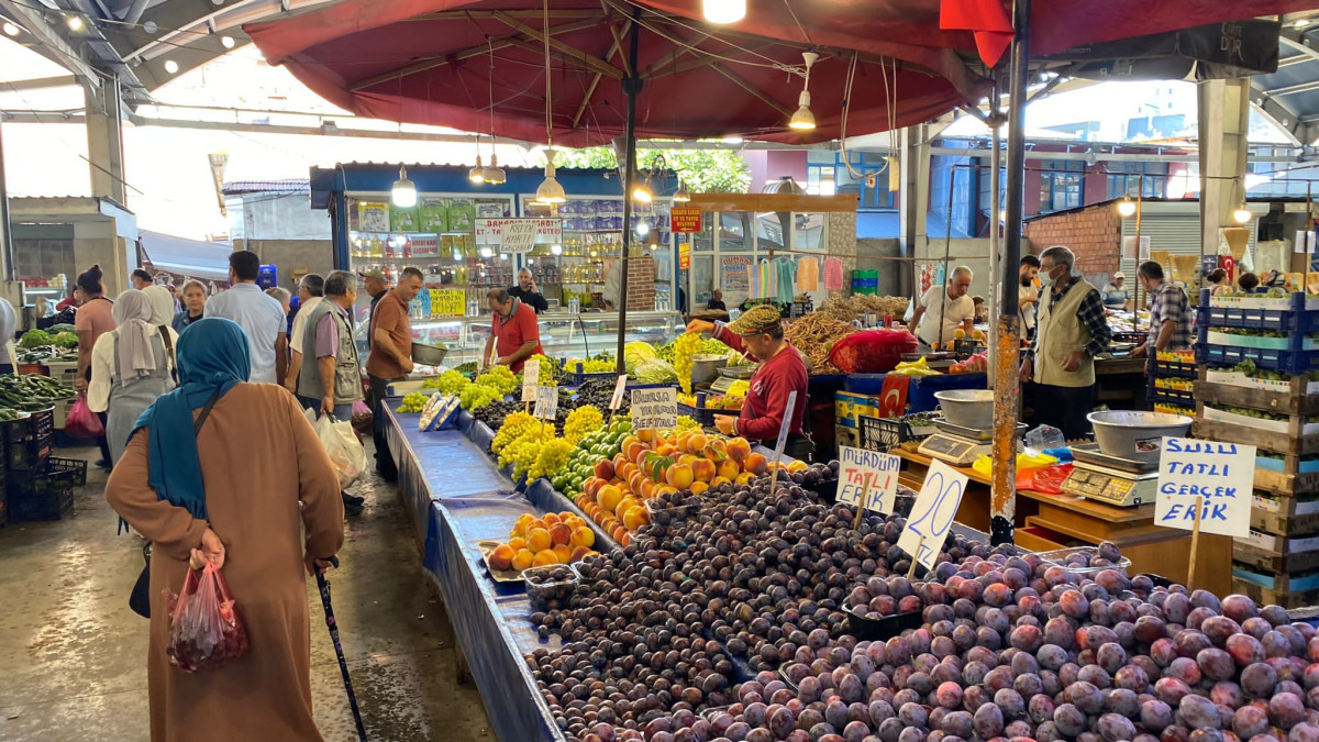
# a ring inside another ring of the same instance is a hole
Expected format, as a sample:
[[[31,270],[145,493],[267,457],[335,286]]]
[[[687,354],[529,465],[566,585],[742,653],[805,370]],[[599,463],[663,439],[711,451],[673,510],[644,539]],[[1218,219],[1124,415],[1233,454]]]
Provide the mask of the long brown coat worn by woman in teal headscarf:
[[[282,387],[244,383],[215,404],[198,433],[210,524],[226,547],[222,574],[252,643],[228,667],[195,675],[165,655],[162,590],[183,585],[207,523],[156,496],[145,433],[133,436],[115,465],[106,499],[156,544],[146,660],[152,741],[321,739],[311,716],[302,527],[306,555],[332,556],[343,545],[343,502],[311,425]]]

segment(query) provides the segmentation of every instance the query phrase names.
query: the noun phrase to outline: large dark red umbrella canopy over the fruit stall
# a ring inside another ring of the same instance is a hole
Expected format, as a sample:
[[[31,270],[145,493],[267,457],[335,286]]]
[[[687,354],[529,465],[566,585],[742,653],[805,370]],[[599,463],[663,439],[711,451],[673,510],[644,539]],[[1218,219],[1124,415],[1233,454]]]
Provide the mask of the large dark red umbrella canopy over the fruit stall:
[[[244,30],[270,63],[357,115],[543,143],[543,24],[534,0],[344,0]],[[843,30],[756,36],[621,0],[550,0],[549,26],[554,143],[570,147],[624,133],[633,28],[641,139],[809,144],[926,121],[984,92],[946,49]],[[806,82],[806,50],[819,54],[810,74],[816,128],[802,132],[787,121]]]

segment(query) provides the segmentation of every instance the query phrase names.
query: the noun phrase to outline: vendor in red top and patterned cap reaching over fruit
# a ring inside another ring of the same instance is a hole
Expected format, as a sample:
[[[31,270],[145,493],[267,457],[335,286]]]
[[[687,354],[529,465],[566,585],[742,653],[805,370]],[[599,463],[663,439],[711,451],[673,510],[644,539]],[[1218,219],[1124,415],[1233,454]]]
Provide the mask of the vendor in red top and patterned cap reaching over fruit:
[[[751,378],[751,389],[747,392],[741,415],[715,416],[719,432],[774,445],[787,412],[787,397],[797,392],[783,453],[799,461],[810,461],[815,453],[815,444],[802,430],[802,421],[806,419],[806,362],[802,360],[802,354],[783,339],[778,309],[768,305],[753,306],[728,325],[692,320],[687,323],[687,331],[710,333],[728,347],[761,362]]]

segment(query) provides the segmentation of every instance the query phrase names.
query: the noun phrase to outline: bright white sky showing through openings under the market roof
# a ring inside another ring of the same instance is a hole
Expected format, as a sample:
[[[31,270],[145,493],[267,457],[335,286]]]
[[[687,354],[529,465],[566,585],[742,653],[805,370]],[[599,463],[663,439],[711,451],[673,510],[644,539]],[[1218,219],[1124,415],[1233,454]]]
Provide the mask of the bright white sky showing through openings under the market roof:
[[[4,82],[58,77],[67,74],[58,65],[20,44],[0,37],[0,110],[5,111],[78,111],[83,98],[78,87],[12,91]],[[270,67],[252,48],[237,49],[210,65],[186,73],[154,92],[161,104],[174,107],[251,108],[259,111],[293,111],[347,119],[343,111],[307,90],[293,75]],[[1101,121],[1103,141],[1120,141],[1128,119],[1155,114],[1184,114],[1186,124],[1195,125],[1195,86],[1186,82],[1103,83],[1079,91],[1063,92],[1039,100],[1028,108],[1028,133],[1049,135],[1046,127],[1078,121]],[[190,108],[142,110],[144,115],[169,119],[232,116],[223,111]],[[248,119],[253,115],[248,114]],[[272,123],[317,125],[317,119],[302,116],[269,116]],[[1252,118],[1253,141],[1285,143],[1281,132],[1258,115]],[[273,135],[224,132],[166,127],[125,125],[124,160],[128,184],[128,206],[142,228],[179,236],[204,239],[223,234],[211,181],[207,154],[228,153],[226,180],[305,178],[311,166],[336,162],[419,162],[464,164],[475,160],[470,144],[402,141],[386,139],[400,127],[388,121],[353,119],[353,125],[381,131],[381,139]],[[438,127],[405,125],[404,131],[446,132]],[[979,121],[963,116],[947,135],[981,136],[988,131]],[[4,165],[9,194],[22,195],[90,195],[91,185],[86,129],[82,124],[7,123]],[[483,149],[488,157],[488,147]],[[505,165],[534,164],[516,147],[500,147]]]

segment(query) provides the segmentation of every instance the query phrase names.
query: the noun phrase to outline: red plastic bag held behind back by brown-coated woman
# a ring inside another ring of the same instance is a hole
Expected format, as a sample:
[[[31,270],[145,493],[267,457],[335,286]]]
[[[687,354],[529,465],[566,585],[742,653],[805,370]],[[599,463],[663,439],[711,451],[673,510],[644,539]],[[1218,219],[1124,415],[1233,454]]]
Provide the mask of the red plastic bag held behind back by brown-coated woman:
[[[207,562],[189,569],[179,594],[165,590],[169,606],[169,661],[183,672],[219,669],[248,650],[247,627],[220,570]]]

